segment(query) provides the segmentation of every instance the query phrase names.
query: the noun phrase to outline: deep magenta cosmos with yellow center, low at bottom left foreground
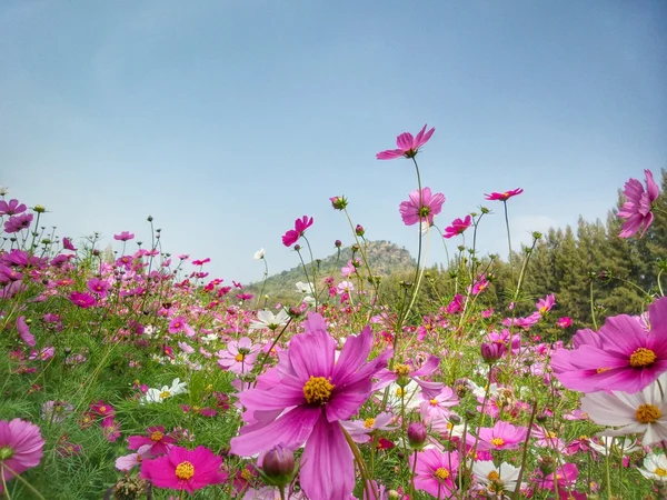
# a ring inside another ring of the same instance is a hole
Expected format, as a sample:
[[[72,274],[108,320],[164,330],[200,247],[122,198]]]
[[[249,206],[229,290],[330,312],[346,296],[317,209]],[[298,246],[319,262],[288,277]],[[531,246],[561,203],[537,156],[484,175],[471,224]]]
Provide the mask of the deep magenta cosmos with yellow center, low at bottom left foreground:
[[[220,471],[222,458],[205,447],[188,450],[172,447],[168,454],[141,463],[141,478],[158,488],[186,490],[192,493],[210,484],[227,481],[228,474]]]

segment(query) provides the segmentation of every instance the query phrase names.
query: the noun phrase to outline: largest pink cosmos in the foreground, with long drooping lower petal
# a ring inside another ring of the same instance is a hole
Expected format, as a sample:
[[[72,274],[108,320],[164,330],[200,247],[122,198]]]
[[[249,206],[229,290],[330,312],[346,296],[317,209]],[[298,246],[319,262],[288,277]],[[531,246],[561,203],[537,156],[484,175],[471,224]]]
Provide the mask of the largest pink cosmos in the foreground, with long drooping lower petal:
[[[386,364],[388,351],[367,362],[374,334],[369,327],[348,337],[336,360],[337,341],[323,318],[310,313],[306,333],[295,336],[280,363],[240,393],[246,412],[231,452],[242,457],[281,443],[301,456],[300,482],[311,500],[347,499],[355,487],[354,457],[340,420],[355,414],[371,393],[371,377]]]

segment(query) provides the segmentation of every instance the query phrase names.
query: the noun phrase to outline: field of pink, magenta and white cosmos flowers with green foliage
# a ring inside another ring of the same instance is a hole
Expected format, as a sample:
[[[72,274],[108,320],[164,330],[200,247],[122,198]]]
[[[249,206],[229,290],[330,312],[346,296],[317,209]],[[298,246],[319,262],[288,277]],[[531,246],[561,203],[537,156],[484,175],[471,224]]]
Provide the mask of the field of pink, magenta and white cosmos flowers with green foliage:
[[[0,497],[667,498],[663,264],[648,289],[631,284],[641,311],[600,311],[580,277],[590,321],[574,321],[558,292],[526,288],[542,234],[511,251],[522,189],[445,220],[445,193],[422,183],[434,132],[377,154],[416,174],[389,216],[419,243],[397,290],[374,272],[371,230],[342,196],[329,201],[349,221],[352,259],[322,273],[308,233],[326,228],[296,219],[282,243],[302,280],[276,303],[209,276],[213,252],[170,253],[152,218],[149,244],[119,228],[109,254],[4,192]],[[616,240],[646,241],[666,216],[644,176],[624,187]],[[506,224],[508,262],[478,254],[482,221]],[[426,300],[437,240],[458,253]]]

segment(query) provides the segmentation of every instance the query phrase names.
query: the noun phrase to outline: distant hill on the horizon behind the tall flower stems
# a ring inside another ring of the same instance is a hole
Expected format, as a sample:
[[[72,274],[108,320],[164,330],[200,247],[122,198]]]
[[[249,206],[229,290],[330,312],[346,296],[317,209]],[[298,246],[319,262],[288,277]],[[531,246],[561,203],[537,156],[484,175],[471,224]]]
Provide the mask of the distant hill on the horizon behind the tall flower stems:
[[[370,269],[374,276],[387,277],[395,273],[404,273],[406,271],[412,271],[416,266],[415,259],[410,256],[410,252],[405,248],[400,248],[390,241],[367,241],[365,252],[370,263]],[[361,253],[356,252],[355,257],[361,259]],[[340,269],[347,266],[347,262],[352,258],[351,247],[341,248],[340,254],[338,252],[331,256],[320,259],[316,262],[318,278],[323,279],[329,276],[334,276],[336,281],[342,279]],[[308,277],[312,280],[309,262],[306,262],[308,267]],[[367,276],[366,268],[360,269],[362,276]],[[282,271],[278,274],[273,274],[267,279],[267,283],[263,290],[265,294],[268,294],[273,302],[280,300],[280,298],[295,298],[298,296],[296,292],[295,283],[298,281],[306,282],[306,274],[301,266],[295,267],[289,271]],[[261,291],[262,282],[248,284],[246,290],[250,293],[259,293]]]

